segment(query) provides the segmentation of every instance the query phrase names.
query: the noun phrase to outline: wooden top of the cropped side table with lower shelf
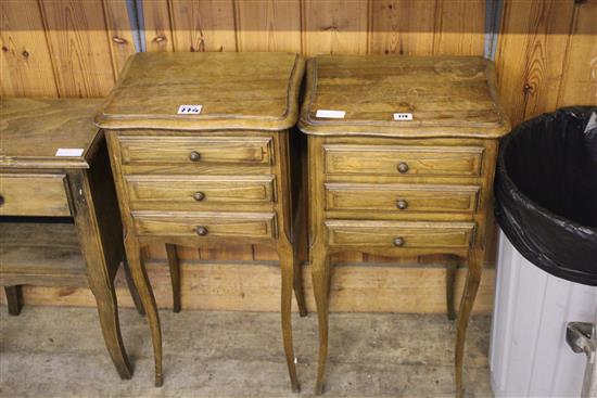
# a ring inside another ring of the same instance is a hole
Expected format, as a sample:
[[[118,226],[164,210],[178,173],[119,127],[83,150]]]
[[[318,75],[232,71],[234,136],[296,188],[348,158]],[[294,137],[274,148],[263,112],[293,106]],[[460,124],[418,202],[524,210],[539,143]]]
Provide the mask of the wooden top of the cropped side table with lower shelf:
[[[101,99],[2,99],[0,167],[88,168],[99,136],[93,115],[101,103]]]

